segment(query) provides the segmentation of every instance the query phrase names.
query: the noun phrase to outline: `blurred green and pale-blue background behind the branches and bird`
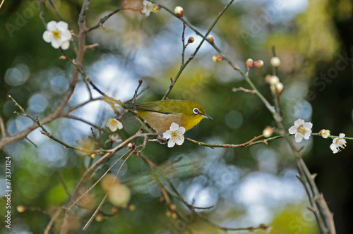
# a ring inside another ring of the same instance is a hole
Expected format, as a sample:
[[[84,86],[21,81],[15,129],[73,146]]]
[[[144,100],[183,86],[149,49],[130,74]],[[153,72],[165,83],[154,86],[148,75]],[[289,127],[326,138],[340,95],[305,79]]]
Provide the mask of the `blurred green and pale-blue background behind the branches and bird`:
[[[78,14],[82,1],[53,1],[69,28],[78,32]],[[102,16],[121,6],[122,1],[92,1],[88,27]],[[186,20],[205,33],[227,1],[160,1],[171,9],[182,6]],[[131,0],[131,4],[140,4]],[[45,5],[45,6],[44,6]],[[43,4],[44,18],[59,21],[48,1]],[[329,129],[332,135],[353,136],[352,27],[353,4],[348,0],[253,0],[235,1],[212,31],[215,43],[244,68],[246,58],[262,59],[263,68],[251,70],[251,80],[272,101],[264,77],[272,73],[271,47],[282,60],[278,76],[285,85],[281,96],[282,113],[287,128],[297,118],[313,123],[313,133]],[[0,114],[8,135],[32,124],[17,116],[18,108],[8,99],[11,94],[32,116],[43,118],[51,113],[68,89],[72,66],[59,60],[60,51],[42,39],[44,26],[33,0],[4,1],[0,9]],[[150,86],[137,102],[161,99],[181,63],[182,24],[164,10],[149,17],[138,12],[121,11],[112,16],[104,29],[88,34],[87,44],[98,43],[84,59],[85,73],[106,94],[116,99],[133,97],[138,79]],[[186,58],[201,38],[186,29],[186,39],[195,42],[186,48]],[[74,57],[72,48],[66,54]],[[186,133],[186,137],[214,144],[239,144],[261,135],[266,125],[275,126],[270,113],[259,99],[232,87],[246,87],[239,73],[227,63],[214,63],[216,51],[203,44],[196,58],[181,74],[169,98],[191,99],[202,104],[214,121],[204,120]],[[95,97],[99,97],[97,93]],[[74,106],[88,99],[85,83],[80,80],[69,101]],[[73,116],[103,128],[114,112],[103,101],[95,101],[72,113]],[[128,133],[138,129],[138,122],[126,116]],[[90,125],[59,118],[45,126],[52,135],[71,145],[92,140]],[[95,130],[97,140],[90,145],[108,148],[107,134]],[[124,133],[118,132],[121,137]],[[68,202],[61,178],[72,192],[80,176],[92,163],[35,130],[28,140],[19,140],[0,152],[0,192],[4,196],[5,156],[12,164],[12,228],[1,224],[1,233],[42,233],[57,207]],[[350,233],[352,221],[352,142],[338,154],[330,150],[331,140],[311,137],[297,144],[305,146],[304,161],[334,213],[337,233]],[[114,144],[115,145],[115,144]],[[111,165],[121,156],[109,161]],[[273,233],[318,233],[314,216],[307,206],[304,188],[297,180],[293,156],[284,140],[240,149],[209,149],[190,142],[169,149],[149,142],[145,154],[164,168],[187,202],[212,209],[198,211],[203,217],[224,227],[248,227],[265,223]],[[99,156],[98,156],[99,157]],[[95,159],[97,160],[97,159]],[[119,163],[118,163],[119,165]],[[120,164],[121,165],[121,164]],[[116,173],[117,169],[113,168]],[[94,182],[101,174],[92,180]],[[160,191],[140,158],[132,156],[120,173],[119,180],[131,190],[134,211],[119,209],[119,216],[93,221],[86,233],[222,233],[191,215],[177,199],[177,209],[187,222],[168,217],[160,201]],[[104,197],[102,187],[93,190],[88,204],[92,209]],[[18,213],[16,207],[27,210]],[[105,202],[104,211],[112,209]],[[1,216],[5,202],[0,201]],[[71,223],[76,233],[92,214],[81,210]],[[58,221],[52,233],[59,231]],[[232,232],[229,232],[232,233]],[[237,232],[237,233],[248,233]],[[254,233],[264,233],[256,230]]]

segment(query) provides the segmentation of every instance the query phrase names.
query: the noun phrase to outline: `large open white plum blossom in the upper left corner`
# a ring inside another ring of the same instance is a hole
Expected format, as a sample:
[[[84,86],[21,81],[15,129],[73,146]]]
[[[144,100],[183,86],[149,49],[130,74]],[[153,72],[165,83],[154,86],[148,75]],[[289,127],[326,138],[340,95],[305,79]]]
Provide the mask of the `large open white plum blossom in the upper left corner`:
[[[43,33],[45,42],[52,43],[55,49],[68,49],[70,47],[71,32],[68,30],[68,24],[64,21],[50,21],[47,24],[47,31]]]

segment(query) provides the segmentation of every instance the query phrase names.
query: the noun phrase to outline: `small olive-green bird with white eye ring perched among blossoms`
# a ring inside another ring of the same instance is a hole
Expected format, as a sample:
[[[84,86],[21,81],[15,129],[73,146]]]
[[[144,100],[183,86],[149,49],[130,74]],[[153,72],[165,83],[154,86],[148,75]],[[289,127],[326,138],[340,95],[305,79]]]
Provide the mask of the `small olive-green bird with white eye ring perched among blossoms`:
[[[169,130],[172,123],[177,123],[187,131],[200,123],[203,118],[213,120],[195,101],[177,99],[149,101],[136,105],[136,111],[160,133]]]

